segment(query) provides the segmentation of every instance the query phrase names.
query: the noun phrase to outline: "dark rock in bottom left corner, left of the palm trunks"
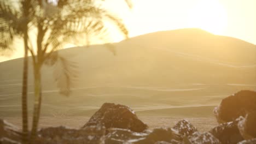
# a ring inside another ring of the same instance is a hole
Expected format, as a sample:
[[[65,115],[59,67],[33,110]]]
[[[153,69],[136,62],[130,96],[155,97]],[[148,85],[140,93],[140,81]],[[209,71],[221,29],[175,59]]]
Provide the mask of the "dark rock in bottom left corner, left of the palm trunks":
[[[0,119],[0,139],[1,141],[5,141],[5,143],[8,143],[8,140],[21,141],[21,130],[15,127],[15,125]]]

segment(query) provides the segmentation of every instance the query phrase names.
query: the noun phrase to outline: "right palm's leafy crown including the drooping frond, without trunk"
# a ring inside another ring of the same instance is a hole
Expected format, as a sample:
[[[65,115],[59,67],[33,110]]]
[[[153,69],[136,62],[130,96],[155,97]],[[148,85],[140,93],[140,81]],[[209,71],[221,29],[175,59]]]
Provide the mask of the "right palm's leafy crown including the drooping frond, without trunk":
[[[101,7],[96,7],[92,1],[78,0],[58,1],[60,15],[42,16],[38,12],[36,14],[37,21],[43,21],[43,26],[47,28],[48,34],[44,36],[43,52],[44,63],[53,66],[54,77],[57,87],[60,88],[60,93],[69,95],[71,91],[72,81],[75,78],[75,64],[68,61],[66,58],[57,54],[58,49],[63,45],[77,39],[82,34],[88,37],[96,36],[103,41],[109,38],[108,27],[105,21],[111,21],[120,31],[128,37],[128,31],[121,19],[118,16],[110,14],[107,10]],[[36,23],[35,23],[36,24]],[[115,47],[111,44],[106,44],[109,51],[114,55]],[[48,53],[47,53],[48,52]]]

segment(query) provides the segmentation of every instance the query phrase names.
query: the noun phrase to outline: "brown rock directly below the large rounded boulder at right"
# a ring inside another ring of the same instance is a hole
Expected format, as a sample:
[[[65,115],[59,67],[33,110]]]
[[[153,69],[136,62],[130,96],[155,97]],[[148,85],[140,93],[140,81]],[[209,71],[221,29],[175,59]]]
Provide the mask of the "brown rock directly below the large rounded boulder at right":
[[[242,117],[237,118],[234,122],[222,123],[214,127],[209,132],[215,136],[220,142],[226,144],[237,143],[243,140],[243,137],[238,130],[237,124]]]

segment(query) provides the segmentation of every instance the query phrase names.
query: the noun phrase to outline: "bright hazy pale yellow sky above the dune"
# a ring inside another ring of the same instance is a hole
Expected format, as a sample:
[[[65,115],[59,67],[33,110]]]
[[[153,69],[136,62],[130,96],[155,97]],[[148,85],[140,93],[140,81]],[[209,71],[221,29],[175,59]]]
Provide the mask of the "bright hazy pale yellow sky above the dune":
[[[133,9],[125,0],[106,0],[107,7],[123,18],[130,37],[156,31],[197,27],[256,44],[256,0],[133,0]],[[123,39],[114,34],[113,41]],[[12,57],[21,57],[16,51]]]

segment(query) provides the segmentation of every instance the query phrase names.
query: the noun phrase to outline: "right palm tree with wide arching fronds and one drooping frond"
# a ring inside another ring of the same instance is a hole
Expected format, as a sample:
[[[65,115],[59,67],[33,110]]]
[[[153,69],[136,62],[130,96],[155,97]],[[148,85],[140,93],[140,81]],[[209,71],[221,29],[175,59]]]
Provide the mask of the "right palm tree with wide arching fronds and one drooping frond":
[[[96,6],[97,4],[100,4]],[[117,16],[103,9],[103,1],[88,0],[59,0],[55,5],[48,1],[33,1],[34,15],[31,20],[31,29],[37,31],[36,49],[28,47],[33,60],[34,73],[34,109],[31,130],[31,142],[36,137],[40,106],[42,101],[42,87],[40,69],[44,64],[59,65],[55,80],[60,93],[68,95],[75,77],[74,63],[60,56],[56,50],[63,47],[68,41],[82,33],[94,34],[101,40],[108,37],[108,27],[105,21],[113,22],[120,32],[128,36],[124,23]],[[55,72],[56,73],[56,72]]]

